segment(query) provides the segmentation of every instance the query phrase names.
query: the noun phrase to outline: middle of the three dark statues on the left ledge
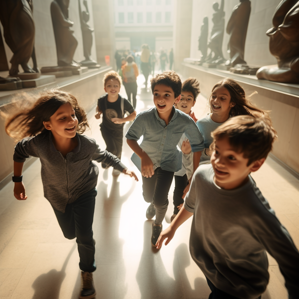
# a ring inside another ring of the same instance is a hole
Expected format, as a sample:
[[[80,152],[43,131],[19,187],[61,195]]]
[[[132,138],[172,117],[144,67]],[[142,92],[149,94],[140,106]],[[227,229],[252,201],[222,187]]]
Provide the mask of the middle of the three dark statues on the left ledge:
[[[51,17],[57,51],[58,66],[78,68],[80,64],[73,60],[78,42],[74,31],[70,29],[74,22],[68,19],[70,0],[54,0],[51,3]]]

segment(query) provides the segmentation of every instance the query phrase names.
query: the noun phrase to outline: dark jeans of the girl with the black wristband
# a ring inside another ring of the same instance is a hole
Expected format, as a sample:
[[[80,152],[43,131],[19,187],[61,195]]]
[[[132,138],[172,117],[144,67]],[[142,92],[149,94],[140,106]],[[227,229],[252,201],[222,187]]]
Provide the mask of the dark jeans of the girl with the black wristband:
[[[75,202],[68,204],[65,213],[54,210],[63,235],[67,239],[77,238],[79,268],[87,272],[93,272],[96,269],[92,231],[96,196],[97,190],[93,189],[78,197]]]

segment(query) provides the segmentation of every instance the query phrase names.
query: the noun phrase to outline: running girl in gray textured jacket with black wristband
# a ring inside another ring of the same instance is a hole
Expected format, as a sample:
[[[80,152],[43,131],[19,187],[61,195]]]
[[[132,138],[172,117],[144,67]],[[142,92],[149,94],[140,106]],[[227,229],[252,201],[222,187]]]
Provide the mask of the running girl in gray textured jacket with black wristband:
[[[94,298],[92,272],[95,271],[92,222],[98,168],[104,161],[134,177],[120,160],[101,150],[95,140],[81,135],[88,125],[86,112],[69,92],[48,90],[30,100],[22,94],[13,104],[13,113],[4,113],[5,130],[20,140],[13,155],[14,196],[27,199],[22,182],[26,158],[38,157],[42,164],[44,196],[51,203],[64,236],[77,238],[83,289],[80,298]]]

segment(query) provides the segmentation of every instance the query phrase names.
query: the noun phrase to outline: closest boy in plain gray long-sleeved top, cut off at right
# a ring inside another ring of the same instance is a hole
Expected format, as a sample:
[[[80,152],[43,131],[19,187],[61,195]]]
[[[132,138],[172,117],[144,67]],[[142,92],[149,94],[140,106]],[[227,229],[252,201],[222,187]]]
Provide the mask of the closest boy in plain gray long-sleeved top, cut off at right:
[[[266,251],[277,261],[289,299],[299,294],[299,252],[250,173],[271,151],[276,132],[265,118],[235,116],[212,132],[211,164],[194,173],[184,206],[157,248],[193,217],[190,254],[207,278],[209,298],[256,299],[266,290]]]

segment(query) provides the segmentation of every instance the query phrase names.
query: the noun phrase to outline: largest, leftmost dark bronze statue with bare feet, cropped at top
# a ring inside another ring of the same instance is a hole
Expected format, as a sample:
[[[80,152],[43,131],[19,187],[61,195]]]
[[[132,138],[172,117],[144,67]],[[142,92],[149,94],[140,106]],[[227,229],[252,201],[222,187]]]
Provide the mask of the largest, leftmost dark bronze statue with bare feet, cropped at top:
[[[26,73],[38,73],[34,52],[35,26],[31,0],[0,0],[0,20],[5,42],[13,52],[10,76],[17,76],[19,64]],[[28,65],[32,56],[33,68]]]

